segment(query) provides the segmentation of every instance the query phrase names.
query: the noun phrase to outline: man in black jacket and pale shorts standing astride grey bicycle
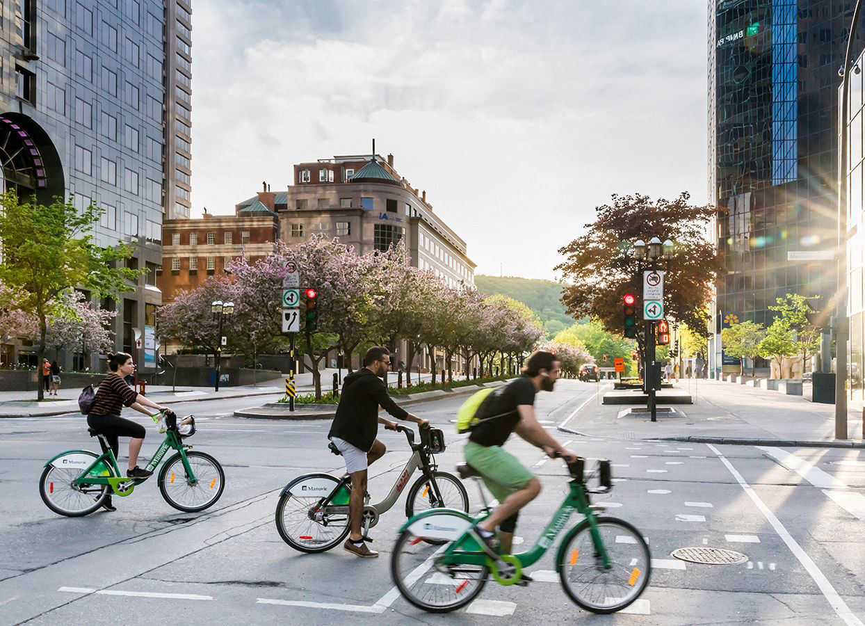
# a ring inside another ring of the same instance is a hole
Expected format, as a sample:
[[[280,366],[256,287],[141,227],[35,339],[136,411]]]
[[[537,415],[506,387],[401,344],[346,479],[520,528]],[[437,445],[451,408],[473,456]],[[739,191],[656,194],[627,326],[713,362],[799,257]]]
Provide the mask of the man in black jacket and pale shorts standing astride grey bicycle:
[[[368,548],[361,534],[363,497],[367,493],[367,468],[381,459],[386,450],[384,443],[375,438],[378,425],[381,423],[386,429],[396,430],[396,423],[379,416],[379,405],[397,419],[414,422],[421,427],[425,427],[429,422],[410,415],[388,396],[388,387],[380,379],[390,366],[390,352],[387,348],[369,348],[363,358],[363,365],[362,370],[354,371],[345,377],[343,393],[339,398],[328,438],[343,455],[345,471],[351,475],[351,531],[343,548],[358,557],[368,558],[377,557],[378,552]]]

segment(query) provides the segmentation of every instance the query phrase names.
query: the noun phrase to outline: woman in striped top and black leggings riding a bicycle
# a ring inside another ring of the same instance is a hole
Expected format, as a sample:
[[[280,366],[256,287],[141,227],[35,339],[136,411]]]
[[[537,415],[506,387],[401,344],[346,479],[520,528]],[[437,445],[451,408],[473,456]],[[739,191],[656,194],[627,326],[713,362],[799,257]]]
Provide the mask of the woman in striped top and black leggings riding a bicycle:
[[[173,415],[173,412],[142,396],[126,384],[124,378],[135,371],[135,364],[132,363],[132,357],[129,354],[125,352],[110,354],[108,356],[108,369],[110,371],[99,384],[99,390],[96,391],[96,397],[93,398],[93,406],[87,413],[87,425],[106,436],[115,457],[119,457],[118,436],[131,437],[129,441],[129,468],[126,470],[126,475],[130,478],[147,478],[153,472],[139,468],[137,465],[138,452],[141,450],[141,444],[144,443],[144,435],[146,434],[144,426],[124,419],[120,416],[120,411],[123,410],[124,406],[128,406],[146,416],[151,416],[152,411],[145,407],[167,411],[166,415]],[[106,511],[117,510],[112,504],[110,495],[103,502],[102,507]]]

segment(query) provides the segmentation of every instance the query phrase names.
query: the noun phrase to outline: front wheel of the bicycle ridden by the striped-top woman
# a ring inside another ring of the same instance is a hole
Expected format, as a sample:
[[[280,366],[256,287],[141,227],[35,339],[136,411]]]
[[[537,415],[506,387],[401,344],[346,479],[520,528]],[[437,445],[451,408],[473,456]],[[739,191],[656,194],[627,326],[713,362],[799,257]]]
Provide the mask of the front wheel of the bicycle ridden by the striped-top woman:
[[[187,513],[203,511],[220,499],[225,488],[225,473],[219,461],[203,452],[187,452],[186,459],[195,474],[189,480],[178,452],[159,471],[159,491],[172,507]]]

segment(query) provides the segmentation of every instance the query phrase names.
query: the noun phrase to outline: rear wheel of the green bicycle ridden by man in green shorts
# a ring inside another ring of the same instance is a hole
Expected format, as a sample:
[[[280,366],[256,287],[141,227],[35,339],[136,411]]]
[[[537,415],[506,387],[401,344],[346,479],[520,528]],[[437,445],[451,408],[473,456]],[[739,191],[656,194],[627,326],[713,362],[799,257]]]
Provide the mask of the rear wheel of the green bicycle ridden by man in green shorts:
[[[445,516],[447,513],[442,513]],[[456,516],[452,516],[455,518]],[[440,526],[450,526],[436,516]],[[458,523],[464,523],[462,517]],[[390,572],[402,597],[419,609],[447,613],[464,607],[484,589],[490,568],[481,565],[436,565],[450,542],[400,533],[390,557]]]

